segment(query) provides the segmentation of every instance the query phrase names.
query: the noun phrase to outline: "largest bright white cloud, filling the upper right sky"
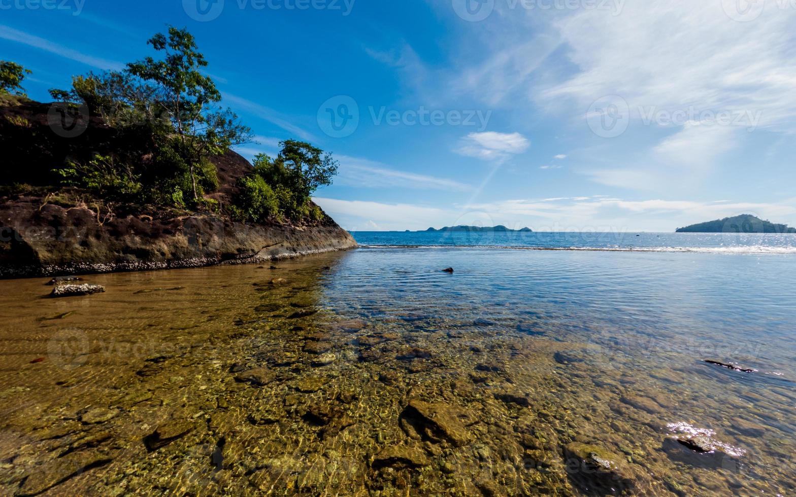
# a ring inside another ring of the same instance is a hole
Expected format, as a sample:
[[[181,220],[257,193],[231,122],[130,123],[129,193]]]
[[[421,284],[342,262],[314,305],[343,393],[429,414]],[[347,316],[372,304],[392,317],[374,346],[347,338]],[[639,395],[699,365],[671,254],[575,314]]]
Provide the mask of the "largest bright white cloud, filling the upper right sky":
[[[753,22],[733,21],[722,2],[679,0],[563,17],[556,27],[579,72],[538,99],[570,96],[585,112],[595,99],[620,95],[631,115],[639,107],[761,111],[762,126],[796,131],[796,10],[777,3],[766,2]]]

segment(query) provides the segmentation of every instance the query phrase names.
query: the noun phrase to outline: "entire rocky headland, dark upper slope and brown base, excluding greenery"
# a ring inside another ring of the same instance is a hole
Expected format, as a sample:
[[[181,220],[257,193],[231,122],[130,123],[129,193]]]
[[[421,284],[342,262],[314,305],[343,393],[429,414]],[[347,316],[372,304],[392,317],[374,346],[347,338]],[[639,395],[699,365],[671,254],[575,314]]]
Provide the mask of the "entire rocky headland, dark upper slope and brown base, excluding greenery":
[[[57,104],[0,102],[0,278],[263,262],[357,246],[326,215],[298,226],[254,225],[210,212],[94,203],[50,186],[58,181],[53,168],[70,160],[122,153],[146,165],[152,156],[135,129],[91,116],[70,134],[53,121],[57,111]],[[219,188],[205,197],[223,207],[252,165],[231,150],[212,161]]]

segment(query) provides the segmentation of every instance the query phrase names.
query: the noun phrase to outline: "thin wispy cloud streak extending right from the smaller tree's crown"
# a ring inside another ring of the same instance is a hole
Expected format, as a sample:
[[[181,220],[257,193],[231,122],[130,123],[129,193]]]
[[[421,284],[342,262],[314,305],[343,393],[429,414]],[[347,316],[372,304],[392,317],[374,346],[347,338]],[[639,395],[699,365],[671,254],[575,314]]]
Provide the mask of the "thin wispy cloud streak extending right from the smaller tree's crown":
[[[473,187],[447,178],[409,173],[390,168],[377,161],[360,157],[338,156],[340,175],[338,184],[371,188],[413,188],[470,192]]]

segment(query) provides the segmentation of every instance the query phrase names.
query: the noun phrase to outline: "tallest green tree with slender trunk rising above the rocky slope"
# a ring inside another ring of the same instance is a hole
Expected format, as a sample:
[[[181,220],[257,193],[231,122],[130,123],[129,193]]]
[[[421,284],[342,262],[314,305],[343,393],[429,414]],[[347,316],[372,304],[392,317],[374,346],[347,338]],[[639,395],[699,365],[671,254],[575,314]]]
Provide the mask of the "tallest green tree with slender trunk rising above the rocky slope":
[[[218,110],[220,92],[213,80],[200,71],[207,61],[198,52],[191,33],[170,26],[168,36],[158,33],[149,45],[163,52],[162,59],[146,57],[127,64],[127,71],[160,88],[158,104],[174,125],[176,146],[188,165],[195,203],[199,199],[196,169],[203,157],[249,142],[252,133],[232,111]]]

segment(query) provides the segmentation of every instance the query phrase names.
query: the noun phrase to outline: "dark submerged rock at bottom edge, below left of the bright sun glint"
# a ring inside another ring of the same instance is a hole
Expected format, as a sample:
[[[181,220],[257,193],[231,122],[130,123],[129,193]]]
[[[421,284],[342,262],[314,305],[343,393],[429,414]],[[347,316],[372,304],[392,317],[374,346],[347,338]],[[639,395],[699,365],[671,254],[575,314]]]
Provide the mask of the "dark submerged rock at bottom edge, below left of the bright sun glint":
[[[629,494],[636,487],[626,461],[604,448],[573,442],[564,447],[564,460],[570,480],[588,495]]]

